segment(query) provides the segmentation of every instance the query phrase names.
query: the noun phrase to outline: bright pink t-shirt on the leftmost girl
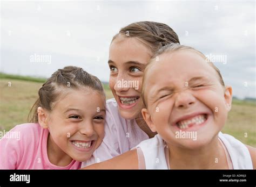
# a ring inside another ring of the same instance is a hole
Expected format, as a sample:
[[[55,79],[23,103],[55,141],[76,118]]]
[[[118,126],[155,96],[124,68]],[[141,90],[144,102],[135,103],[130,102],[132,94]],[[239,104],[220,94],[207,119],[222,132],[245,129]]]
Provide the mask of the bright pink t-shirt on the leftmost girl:
[[[79,169],[72,160],[65,167],[52,164],[47,155],[49,131],[39,124],[17,125],[0,140],[0,169]]]

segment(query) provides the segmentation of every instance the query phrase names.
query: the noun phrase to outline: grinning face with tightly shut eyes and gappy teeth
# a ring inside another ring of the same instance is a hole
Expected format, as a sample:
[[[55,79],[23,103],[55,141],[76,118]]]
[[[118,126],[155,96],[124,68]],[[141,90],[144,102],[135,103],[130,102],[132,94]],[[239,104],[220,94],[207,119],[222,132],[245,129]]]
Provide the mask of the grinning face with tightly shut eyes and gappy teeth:
[[[223,128],[231,108],[232,89],[196,52],[164,53],[146,74],[143,117],[169,145],[188,149],[208,145]],[[195,132],[177,138],[177,132]]]

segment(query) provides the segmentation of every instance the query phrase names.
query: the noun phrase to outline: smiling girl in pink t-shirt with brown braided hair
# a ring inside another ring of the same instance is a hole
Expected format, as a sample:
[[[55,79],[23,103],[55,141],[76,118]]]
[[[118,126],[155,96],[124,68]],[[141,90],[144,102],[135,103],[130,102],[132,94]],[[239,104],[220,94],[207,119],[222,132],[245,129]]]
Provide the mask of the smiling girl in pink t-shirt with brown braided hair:
[[[38,91],[29,124],[0,140],[0,169],[79,169],[104,137],[105,94],[82,68],[58,69]]]

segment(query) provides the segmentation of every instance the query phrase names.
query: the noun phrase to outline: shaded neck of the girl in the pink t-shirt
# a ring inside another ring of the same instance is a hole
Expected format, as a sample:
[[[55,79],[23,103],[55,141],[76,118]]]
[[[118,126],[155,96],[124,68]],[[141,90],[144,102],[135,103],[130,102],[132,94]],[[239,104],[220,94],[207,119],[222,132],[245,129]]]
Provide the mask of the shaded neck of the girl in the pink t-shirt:
[[[52,140],[50,132],[47,140],[47,154],[49,161],[55,166],[65,167],[68,166],[73,160],[56,145],[56,143]]]

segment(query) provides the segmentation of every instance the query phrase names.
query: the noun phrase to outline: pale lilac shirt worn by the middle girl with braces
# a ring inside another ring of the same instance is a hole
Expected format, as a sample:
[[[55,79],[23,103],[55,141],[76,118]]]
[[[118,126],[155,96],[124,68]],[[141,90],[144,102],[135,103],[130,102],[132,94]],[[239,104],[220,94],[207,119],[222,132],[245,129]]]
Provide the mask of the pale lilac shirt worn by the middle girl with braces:
[[[93,152],[93,159],[83,162],[82,167],[103,162],[137,146],[149,136],[139,128],[136,120],[120,116],[116,100],[106,101],[105,136],[101,145]]]

